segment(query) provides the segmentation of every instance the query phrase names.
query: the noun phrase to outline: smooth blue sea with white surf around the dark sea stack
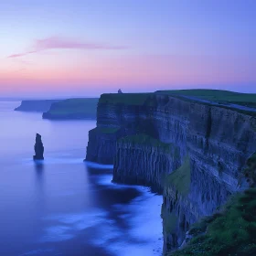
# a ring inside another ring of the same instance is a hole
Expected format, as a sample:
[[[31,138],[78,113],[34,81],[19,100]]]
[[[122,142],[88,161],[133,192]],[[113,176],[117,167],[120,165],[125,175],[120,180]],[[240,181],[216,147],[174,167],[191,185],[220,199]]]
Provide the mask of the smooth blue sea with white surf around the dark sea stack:
[[[161,255],[162,197],[83,163],[92,121],[52,122],[0,101],[0,255]],[[35,165],[36,133],[46,160]]]

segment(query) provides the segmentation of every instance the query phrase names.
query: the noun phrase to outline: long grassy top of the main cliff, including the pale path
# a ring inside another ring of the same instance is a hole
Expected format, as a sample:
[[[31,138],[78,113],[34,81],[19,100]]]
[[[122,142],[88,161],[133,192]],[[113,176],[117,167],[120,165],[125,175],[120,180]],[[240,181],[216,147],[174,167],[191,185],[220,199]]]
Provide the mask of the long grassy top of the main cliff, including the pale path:
[[[191,89],[155,91],[149,93],[106,93],[101,94],[99,103],[147,105],[156,107],[154,95],[169,95],[182,101],[198,102],[203,105],[213,105],[256,117],[256,94],[234,91]]]

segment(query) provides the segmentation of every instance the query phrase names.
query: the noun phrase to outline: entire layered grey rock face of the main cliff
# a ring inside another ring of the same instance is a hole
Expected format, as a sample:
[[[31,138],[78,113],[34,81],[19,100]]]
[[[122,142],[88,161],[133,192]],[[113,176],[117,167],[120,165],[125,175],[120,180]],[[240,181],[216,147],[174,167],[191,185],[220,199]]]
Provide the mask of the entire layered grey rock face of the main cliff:
[[[97,127],[119,129],[119,134],[106,144],[105,134],[95,140],[90,133],[87,159],[98,161],[108,152],[114,181],[162,189],[165,251],[179,247],[189,225],[240,189],[241,169],[256,150],[254,117],[175,96],[151,94],[139,106],[100,101]],[[161,146],[134,141],[136,133],[146,133]],[[169,151],[163,144],[170,145]],[[176,176],[189,180],[186,193],[176,182],[163,182]]]

